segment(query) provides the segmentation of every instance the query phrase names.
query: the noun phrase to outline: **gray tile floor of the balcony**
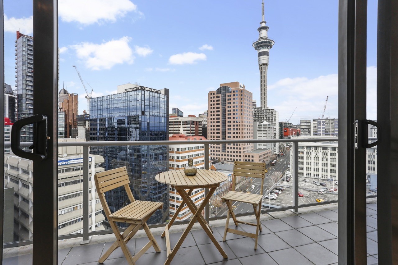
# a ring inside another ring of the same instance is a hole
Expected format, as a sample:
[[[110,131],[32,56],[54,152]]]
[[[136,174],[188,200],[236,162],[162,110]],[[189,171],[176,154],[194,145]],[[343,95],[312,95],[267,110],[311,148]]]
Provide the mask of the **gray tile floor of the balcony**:
[[[213,229],[213,233],[221,247],[228,255],[223,259],[203,230],[191,231],[174,257],[172,264],[222,264],[222,265],[254,265],[254,264],[337,264],[337,209],[316,213],[300,214],[280,219],[261,222],[263,231],[259,234],[258,248],[254,250],[254,240],[235,234],[228,234],[226,242],[222,242],[223,227]],[[377,204],[367,205],[367,262],[377,264]],[[232,225],[234,226],[234,225]],[[238,229],[252,232],[254,226],[239,225]],[[171,245],[174,246],[181,233],[170,234]],[[162,265],[166,260],[166,243],[164,238],[155,236],[160,248],[156,253],[148,249],[137,261],[137,265]],[[134,255],[148,241],[147,238],[132,239],[128,243]],[[59,249],[60,265],[97,265],[97,261],[112,243],[76,246]],[[32,264],[32,255],[4,259],[4,265]],[[103,263],[104,265],[125,265],[127,261],[119,249]]]

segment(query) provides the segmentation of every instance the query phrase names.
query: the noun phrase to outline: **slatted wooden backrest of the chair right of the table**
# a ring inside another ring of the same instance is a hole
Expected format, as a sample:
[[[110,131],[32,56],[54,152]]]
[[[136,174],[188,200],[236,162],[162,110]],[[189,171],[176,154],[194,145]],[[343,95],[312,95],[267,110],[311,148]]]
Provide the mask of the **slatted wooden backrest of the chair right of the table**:
[[[262,195],[266,169],[266,163],[234,161],[234,171],[232,173],[232,191],[235,191],[236,177],[258,177],[261,178]]]

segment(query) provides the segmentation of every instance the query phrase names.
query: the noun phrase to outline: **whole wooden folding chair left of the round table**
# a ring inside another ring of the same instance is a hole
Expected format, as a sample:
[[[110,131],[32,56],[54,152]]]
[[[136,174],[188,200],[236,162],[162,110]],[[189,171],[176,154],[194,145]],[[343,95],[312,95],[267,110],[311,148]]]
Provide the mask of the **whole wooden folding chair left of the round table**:
[[[107,259],[107,257],[109,257],[109,255],[111,255],[111,253],[118,247],[121,247],[129,265],[135,265],[137,259],[139,259],[139,257],[141,257],[141,255],[144,254],[145,251],[151,246],[154,247],[156,252],[160,252],[160,247],[153,237],[152,232],[150,232],[146,221],[157,209],[161,209],[163,207],[163,203],[152,201],[136,201],[129,187],[130,180],[126,167],[96,173],[94,175],[94,179],[101,205],[106,217],[108,218],[113,233],[116,236],[116,242],[109,247],[109,249],[100,258],[100,260],[98,260],[98,262],[103,263],[105,259]],[[129,196],[131,203],[120,210],[111,213],[108,204],[105,201],[104,193],[121,186],[125,187],[126,193]],[[116,226],[116,222],[129,223],[130,226],[125,230],[125,232],[123,232],[123,234],[120,234],[120,231]],[[126,243],[133,238],[135,233],[137,233],[141,227],[144,228],[145,233],[150,241],[132,257],[129,249],[126,246]]]

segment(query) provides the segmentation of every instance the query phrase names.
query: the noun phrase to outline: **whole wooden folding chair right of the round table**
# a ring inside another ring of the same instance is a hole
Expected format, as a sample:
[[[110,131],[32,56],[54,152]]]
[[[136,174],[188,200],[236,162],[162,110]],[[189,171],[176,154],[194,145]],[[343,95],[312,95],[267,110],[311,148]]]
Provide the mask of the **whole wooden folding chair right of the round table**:
[[[232,176],[232,191],[228,191],[228,193],[226,195],[221,197],[222,201],[225,202],[228,207],[223,241],[226,240],[226,233],[228,233],[228,232],[232,233],[232,234],[241,235],[241,236],[248,236],[250,238],[256,239],[256,241],[254,242],[254,249],[257,249],[258,231],[262,230],[261,224],[260,224],[260,213],[261,213],[261,199],[263,197],[263,184],[264,184],[264,178],[265,178],[265,169],[266,169],[265,163],[234,161],[234,171],[232,173],[233,174],[233,176]],[[261,193],[260,194],[252,194],[252,193],[244,193],[244,192],[235,191],[236,177],[238,177],[238,176],[240,176],[240,177],[260,177],[261,178]],[[242,203],[251,203],[254,208],[254,215],[256,216],[257,224],[252,224],[249,222],[242,222],[242,221],[236,220],[234,210],[232,209],[231,201],[238,201],[238,202],[242,202]],[[257,209],[257,207],[258,207],[258,209]],[[238,223],[248,224],[250,226],[256,226],[256,234],[228,228],[230,217],[232,217],[232,220],[234,220],[235,226],[238,226]]]

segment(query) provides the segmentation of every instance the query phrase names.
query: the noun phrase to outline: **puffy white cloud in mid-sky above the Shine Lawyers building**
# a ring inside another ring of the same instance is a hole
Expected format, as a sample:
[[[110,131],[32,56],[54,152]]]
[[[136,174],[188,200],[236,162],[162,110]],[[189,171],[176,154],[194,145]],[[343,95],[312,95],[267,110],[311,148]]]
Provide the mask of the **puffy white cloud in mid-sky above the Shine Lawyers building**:
[[[122,37],[101,44],[83,42],[71,45],[70,48],[76,50],[76,56],[85,62],[87,68],[110,69],[115,64],[133,63],[133,51],[129,47],[130,40],[130,37]]]

